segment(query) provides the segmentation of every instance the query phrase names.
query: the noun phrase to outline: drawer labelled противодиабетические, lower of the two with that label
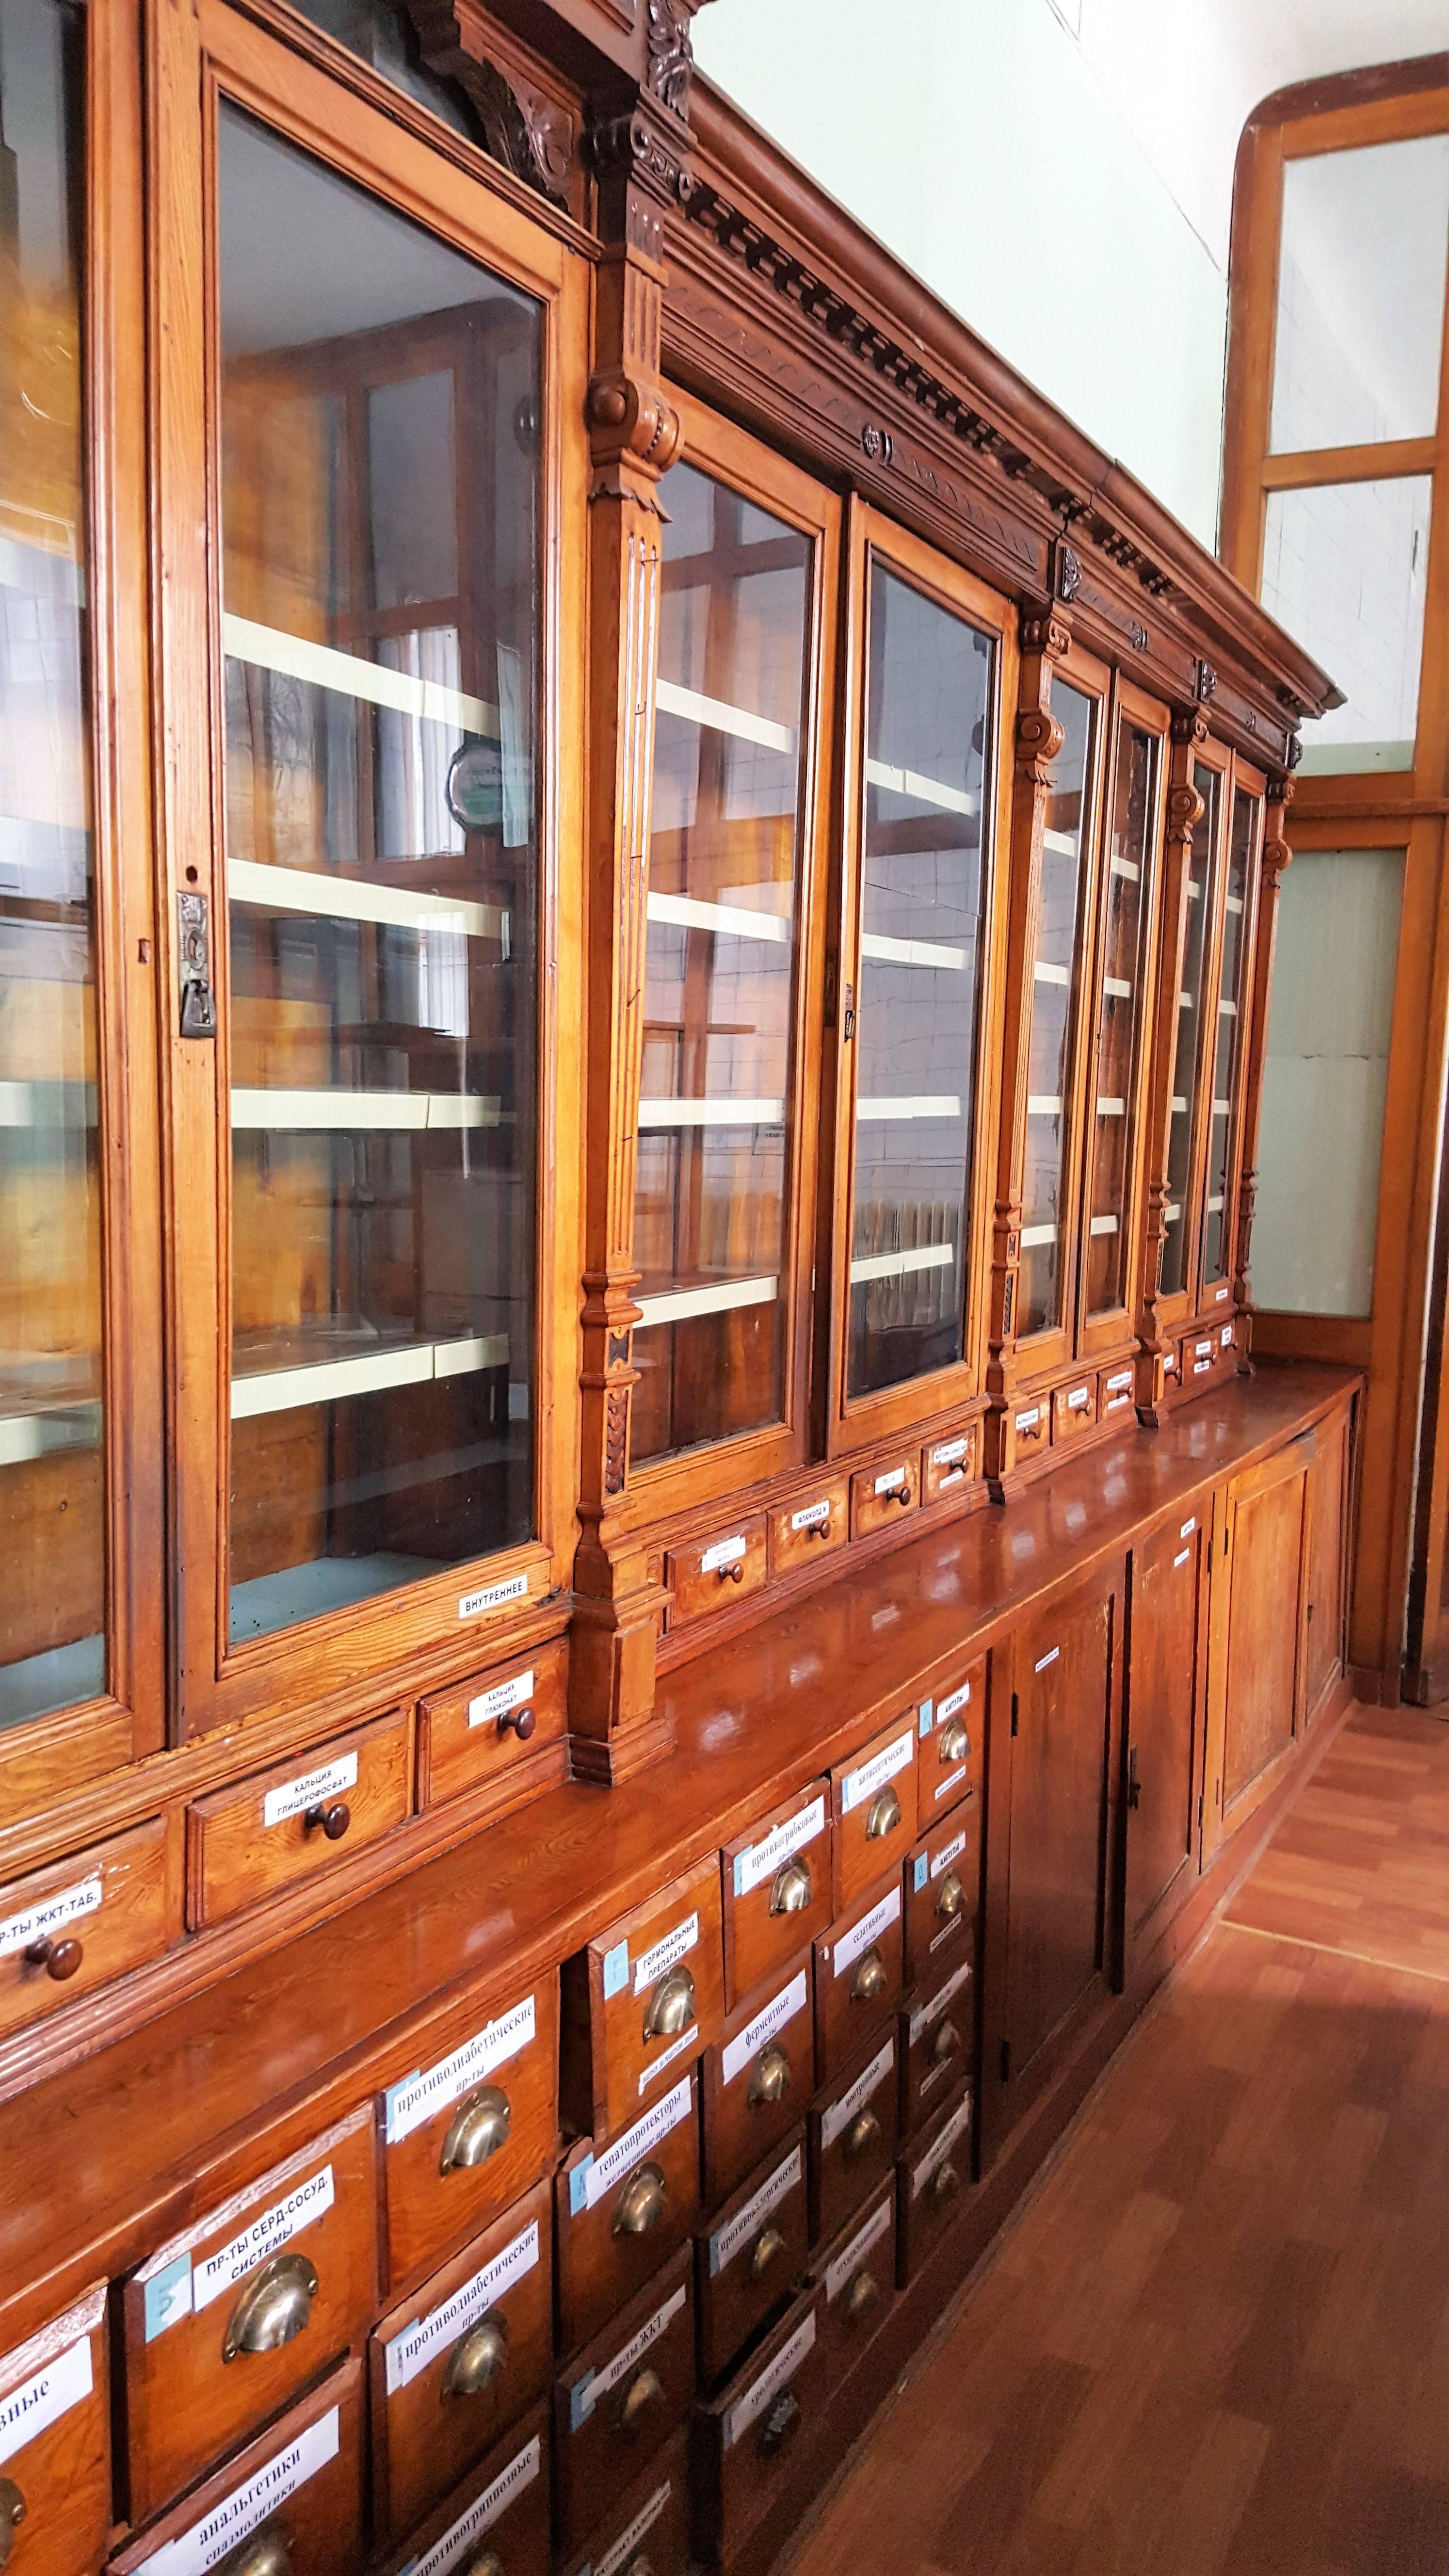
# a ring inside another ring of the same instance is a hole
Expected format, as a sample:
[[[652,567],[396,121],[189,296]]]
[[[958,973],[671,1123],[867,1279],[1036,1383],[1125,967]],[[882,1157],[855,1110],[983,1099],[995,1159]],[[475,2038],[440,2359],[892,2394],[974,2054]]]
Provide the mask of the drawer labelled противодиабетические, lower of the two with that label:
[[[376,2530],[431,2512],[549,2385],[554,2329],[552,2187],[539,2182],[369,2347]]]

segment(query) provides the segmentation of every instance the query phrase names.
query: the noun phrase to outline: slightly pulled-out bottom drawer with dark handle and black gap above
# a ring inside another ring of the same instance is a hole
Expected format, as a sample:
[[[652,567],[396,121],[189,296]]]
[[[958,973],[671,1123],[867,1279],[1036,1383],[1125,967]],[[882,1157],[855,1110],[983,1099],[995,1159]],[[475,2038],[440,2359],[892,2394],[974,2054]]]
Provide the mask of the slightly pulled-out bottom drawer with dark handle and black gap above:
[[[807,2290],[714,2403],[694,2411],[694,2550],[709,2568],[732,2563],[822,2424],[822,2324],[825,2293]]]

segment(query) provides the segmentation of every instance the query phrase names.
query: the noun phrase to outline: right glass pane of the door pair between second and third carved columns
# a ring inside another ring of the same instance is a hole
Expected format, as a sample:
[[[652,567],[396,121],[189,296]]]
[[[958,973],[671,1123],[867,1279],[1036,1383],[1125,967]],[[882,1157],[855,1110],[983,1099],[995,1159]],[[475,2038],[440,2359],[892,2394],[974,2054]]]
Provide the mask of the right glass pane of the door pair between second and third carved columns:
[[[1116,788],[1106,850],[1101,1002],[1096,1030],[1096,1133],[1091,1151],[1085,1283],[1088,1314],[1127,1303],[1127,1190],[1137,1141],[1134,1100],[1147,1025],[1147,920],[1158,866],[1158,773],[1163,744],[1127,719],[1116,737]]]

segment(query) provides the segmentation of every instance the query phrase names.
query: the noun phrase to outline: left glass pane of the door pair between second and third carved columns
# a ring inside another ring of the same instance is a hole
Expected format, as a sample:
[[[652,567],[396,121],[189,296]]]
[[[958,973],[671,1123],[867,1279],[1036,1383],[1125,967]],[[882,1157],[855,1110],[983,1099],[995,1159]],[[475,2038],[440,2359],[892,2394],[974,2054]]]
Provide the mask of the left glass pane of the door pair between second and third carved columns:
[[[1026,1074],[1026,1170],[1021,1182],[1021,1280],[1016,1334],[1062,1321],[1065,1190],[1070,1157],[1070,1051],[1083,933],[1083,832],[1096,734],[1096,698],[1057,680],[1052,714],[1062,750],[1052,760],[1042,829],[1042,894],[1031,956],[1031,1054]]]

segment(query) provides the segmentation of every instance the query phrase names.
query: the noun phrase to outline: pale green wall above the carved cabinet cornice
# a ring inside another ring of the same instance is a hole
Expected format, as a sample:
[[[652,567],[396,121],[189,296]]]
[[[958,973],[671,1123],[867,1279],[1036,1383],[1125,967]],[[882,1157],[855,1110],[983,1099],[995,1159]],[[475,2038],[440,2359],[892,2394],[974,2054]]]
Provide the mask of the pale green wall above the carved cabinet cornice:
[[[1049,0],[717,0],[694,44],[820,185],[1214,544],[1227,281]]]

